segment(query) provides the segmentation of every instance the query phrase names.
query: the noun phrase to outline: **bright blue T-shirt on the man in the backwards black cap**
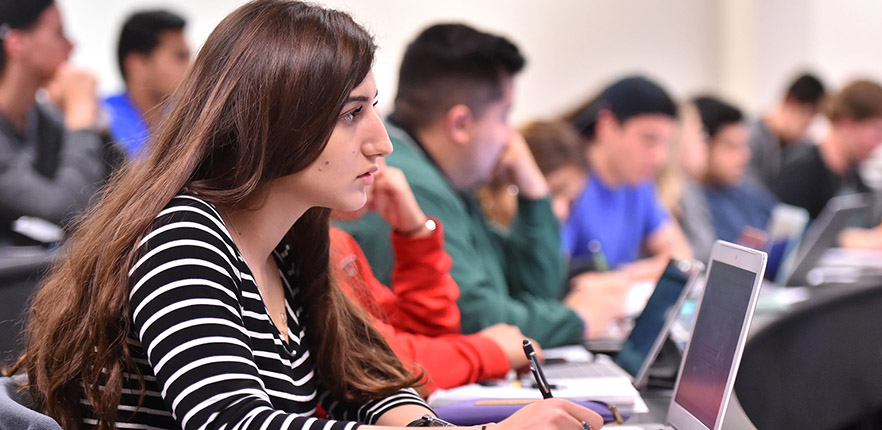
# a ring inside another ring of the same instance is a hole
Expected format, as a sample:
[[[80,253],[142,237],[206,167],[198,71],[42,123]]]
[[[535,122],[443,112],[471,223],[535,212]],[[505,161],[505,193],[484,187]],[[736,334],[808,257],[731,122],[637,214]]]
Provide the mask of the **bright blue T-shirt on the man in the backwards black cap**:
[[[643,241],[669,218],[652,182],[610,187],[592,173],[563,225],[563,246],[571,257],[590,257],[588,243],[597,240],[615,268],[637,260]]]

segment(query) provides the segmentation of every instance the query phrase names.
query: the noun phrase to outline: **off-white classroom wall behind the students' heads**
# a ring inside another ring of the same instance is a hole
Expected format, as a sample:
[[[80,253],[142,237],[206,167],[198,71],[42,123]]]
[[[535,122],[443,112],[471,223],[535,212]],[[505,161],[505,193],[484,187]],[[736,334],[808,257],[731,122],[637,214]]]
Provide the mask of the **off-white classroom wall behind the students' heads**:
[[[74,61],[101,90],[121,86],[115,44],[133,10],[184,15],[194,48],[241,0],[58,0],[77,42]],[[347,10],[380,45],[375,74],[388,112],[401,54],[421,29],[463,21],[506,35],[528,65],[516,122],[557,115],[626,73],[646,73],[677,97],[717,92],[755,113],[793,74],[811,67],[832,85],[882,80],[882,3],[871,0],[324,0]]]

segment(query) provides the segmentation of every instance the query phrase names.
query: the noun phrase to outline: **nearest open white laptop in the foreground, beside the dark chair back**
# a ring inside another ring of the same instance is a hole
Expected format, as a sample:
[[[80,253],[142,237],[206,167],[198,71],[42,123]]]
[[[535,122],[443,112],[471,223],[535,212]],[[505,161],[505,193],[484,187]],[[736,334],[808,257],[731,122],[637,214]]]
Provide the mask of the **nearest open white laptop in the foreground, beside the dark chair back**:
[[[625,429],[720,430],[760,285],[766,253],[717,241],[686,347],[667,423]]]

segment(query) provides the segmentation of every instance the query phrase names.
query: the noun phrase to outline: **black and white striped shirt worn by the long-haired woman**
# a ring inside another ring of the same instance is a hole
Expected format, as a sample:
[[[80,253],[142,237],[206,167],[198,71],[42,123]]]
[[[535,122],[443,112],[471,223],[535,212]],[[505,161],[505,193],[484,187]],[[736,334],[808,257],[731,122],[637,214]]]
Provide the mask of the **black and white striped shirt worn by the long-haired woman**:
[[[425,406],[413,390],[364,405],[332,399],[315,373],[297,286],[281,276],[286,344],[210,203],[177,196],[138,246],[128,342],[148,392],[138,408],[128,375],[118,428],[350,430],[399,405]],[[290,270],[284,249],[275,256]],[[319,403],[341,421],[313,417]],[[94,425],[86,409],[85,424]]]

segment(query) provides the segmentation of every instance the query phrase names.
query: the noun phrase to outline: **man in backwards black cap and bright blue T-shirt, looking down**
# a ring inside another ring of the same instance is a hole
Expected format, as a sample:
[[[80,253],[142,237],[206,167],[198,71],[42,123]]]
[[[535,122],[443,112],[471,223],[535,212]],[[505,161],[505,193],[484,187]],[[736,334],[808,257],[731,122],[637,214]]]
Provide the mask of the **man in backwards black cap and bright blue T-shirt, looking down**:
[[[653,277],[655,268],[662,268],[656,262],[692,257],[652,182],[665,161],[676,116],[668,94],[639,76],[615,82],[569,116],[586,138],[591,165],[588,183],[563,226],[564,248],[574,261],[602,255],[609,268],[619,269],[637,261],[643,250],[658,258],[637,266],[646,270],[635,270],[635,276]]]

